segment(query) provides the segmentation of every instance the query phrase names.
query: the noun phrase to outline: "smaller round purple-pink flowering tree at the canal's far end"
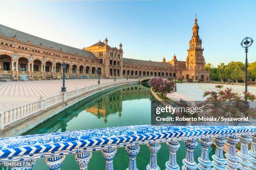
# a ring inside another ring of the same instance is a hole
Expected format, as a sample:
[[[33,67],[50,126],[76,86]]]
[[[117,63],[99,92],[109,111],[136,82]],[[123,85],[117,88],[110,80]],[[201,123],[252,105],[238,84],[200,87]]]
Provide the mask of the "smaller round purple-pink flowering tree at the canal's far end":
[[[163,98],[167,93],[174,92],[175,83],[161,78],[154,78],[150,85],[155,92],[161,92]]]

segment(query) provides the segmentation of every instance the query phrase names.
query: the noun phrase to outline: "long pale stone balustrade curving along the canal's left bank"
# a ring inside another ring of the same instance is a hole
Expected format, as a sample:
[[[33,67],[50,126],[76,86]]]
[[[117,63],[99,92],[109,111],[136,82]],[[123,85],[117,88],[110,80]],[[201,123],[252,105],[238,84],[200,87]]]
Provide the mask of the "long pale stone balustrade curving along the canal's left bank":
[[[16,107],[6,111],[0,111],[0,130],[3,130],[7,125],[10,125],[18,120],[21,120],[25,117],[31,116],[36,112],[40,112],[54,106],[60,102],[64,102],[66,100],[71,99],[72,97],[76,97],[82,95],[83,93],[90,92],[96,89],[100,89],[102,87],[108,87],[113,85],[119,85],[123,83],[130,82],[138,82],[138,80],[120,80],[115,82],[106,82],[102,84],[92,85],[88,87],[83,87],[77,90],[73,90],[70,92],[64,92],[58,95],[54,95],[51,97],[43,98],[40,97],[39,101],[32,102],[26,105],[22,105],[20,107]]]

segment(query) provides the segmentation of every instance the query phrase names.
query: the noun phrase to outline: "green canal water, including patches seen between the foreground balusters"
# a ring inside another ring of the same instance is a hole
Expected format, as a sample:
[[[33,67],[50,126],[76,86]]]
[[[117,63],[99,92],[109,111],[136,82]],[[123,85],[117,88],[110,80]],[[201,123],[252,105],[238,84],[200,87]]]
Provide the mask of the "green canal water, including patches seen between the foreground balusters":
[[[77,103],[24,135],[150,124],[151,100],[154,98],[147,84],[116,87]],[[181,147],[177,152],[177,163],[181,168],[182,159],[186,156],[186,147],[183,141],[180,144]],[[146,145],[140,145],[140,147],[141,151],[137,156],[137,168],[144,170],[149,163],[150,152]],[[209,152],[211,157],[214,151],[210,148]],[[197,145],[194,155],[197,162],[197,158],[201,155],[200,144]],[[162,170],[165,169],[167,160],[169,160],[169,149],[165,143],[161,143],[157,162]],[[33,170],[48,170],[44,161],[45,159],[37,160]],[[128,168],[128,155],[125,148],[118,148],[113,162],[115,170]],[[90,170],[105,169],[105,159],[100,151],[92,153],[88,168]],[[61,170],[78,169],[79,166],[74,155],[66,156]]]

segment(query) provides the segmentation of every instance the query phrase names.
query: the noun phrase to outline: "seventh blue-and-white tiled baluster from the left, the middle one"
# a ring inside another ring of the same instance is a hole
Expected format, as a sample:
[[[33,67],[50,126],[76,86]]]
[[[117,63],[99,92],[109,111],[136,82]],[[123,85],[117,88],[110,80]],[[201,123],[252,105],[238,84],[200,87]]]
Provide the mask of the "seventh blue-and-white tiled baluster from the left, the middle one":
[[[180,147],[179,142],[172,141],[172,142],[167,142],[166,144],[170,150],[170,157],[169,157],[169,161],[165,163],[165,167],[166,167],[165,170],[179,170],[179,165],[177,164],[177,159],[176,159],[176,153]]]

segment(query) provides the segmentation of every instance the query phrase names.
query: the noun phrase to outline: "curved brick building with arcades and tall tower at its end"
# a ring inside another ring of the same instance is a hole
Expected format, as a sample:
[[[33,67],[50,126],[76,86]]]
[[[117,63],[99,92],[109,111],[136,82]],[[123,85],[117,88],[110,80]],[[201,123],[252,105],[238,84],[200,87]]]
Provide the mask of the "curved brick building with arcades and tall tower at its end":
[[[123,58],[123,45],[110,47],[108,39],[78,49],[45,40],[0,25],[0,80],[61,79],[61,63],[67,63],[67,78],[102,77],[177,77],[177,79],[210,80],[203,57],[197,19],[193,26],[186,61],[162,62]],[[176,66],[176,69],[175,69]]]

